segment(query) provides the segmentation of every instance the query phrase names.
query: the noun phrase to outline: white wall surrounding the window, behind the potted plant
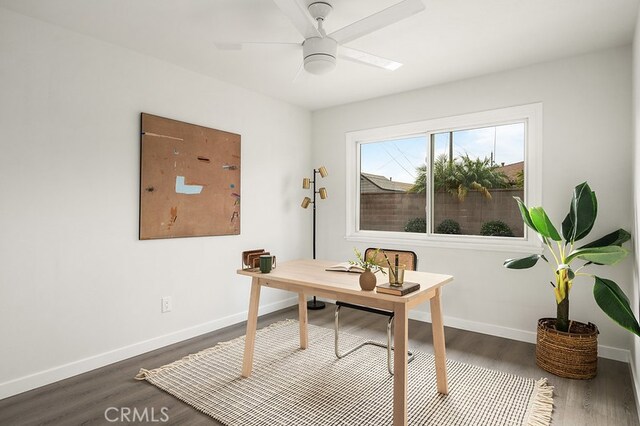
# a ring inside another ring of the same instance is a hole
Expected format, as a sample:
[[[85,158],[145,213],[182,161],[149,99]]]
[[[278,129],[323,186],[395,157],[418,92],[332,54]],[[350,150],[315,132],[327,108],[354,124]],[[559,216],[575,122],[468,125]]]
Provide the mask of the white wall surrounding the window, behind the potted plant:
[[[332,196],[319,209],[319,257],[349,259],[354,245],[377,246],[344,238],[345,132],[533,102],[543,103],[543,206],[552,219],[562,221],[573,187],[586,180],[600,207],[593,237],[631,229],[631,50],[622,47],[314,112],[314,163],[333,172]],[[443,292],[445,324],[533,341],[536,320],[555,316],[548,268],[502,267],[519,253],[406,248],[418,254],[419,269],[454,275]],[[628,258],[599,272],[629,292],[632,266]],[[591,291],[591,281],[576,281],[571,317],[598,325],[600,355],[626,361],[629,336]],[[427,312],[421,307],[417,317]]]

